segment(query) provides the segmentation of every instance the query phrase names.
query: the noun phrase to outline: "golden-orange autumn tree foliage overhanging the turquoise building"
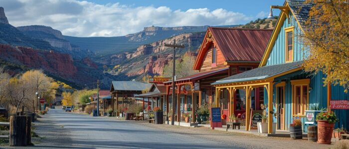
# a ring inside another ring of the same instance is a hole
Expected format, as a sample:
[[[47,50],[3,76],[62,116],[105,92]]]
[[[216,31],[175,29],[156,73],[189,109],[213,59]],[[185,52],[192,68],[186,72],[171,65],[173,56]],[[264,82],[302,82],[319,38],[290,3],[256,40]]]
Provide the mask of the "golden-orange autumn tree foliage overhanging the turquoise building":
[[[324,83],[349,89],[349,2],[348,0],[306,0],[312,5],[301,35],[309,50],[305,71],[326,74]]]

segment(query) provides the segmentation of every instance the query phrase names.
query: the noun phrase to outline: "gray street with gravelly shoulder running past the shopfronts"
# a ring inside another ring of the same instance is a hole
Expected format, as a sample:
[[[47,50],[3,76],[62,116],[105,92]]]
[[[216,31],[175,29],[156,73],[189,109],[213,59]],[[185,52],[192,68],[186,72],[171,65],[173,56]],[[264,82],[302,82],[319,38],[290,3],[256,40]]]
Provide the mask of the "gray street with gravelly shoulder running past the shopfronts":
[[[15,149],[328,149],[307,140],[155,125],[50,109],[35,122],[34,146]],[[12,149],[10,147],[1,148]],[[14,148],[13,148],[14,149]]]

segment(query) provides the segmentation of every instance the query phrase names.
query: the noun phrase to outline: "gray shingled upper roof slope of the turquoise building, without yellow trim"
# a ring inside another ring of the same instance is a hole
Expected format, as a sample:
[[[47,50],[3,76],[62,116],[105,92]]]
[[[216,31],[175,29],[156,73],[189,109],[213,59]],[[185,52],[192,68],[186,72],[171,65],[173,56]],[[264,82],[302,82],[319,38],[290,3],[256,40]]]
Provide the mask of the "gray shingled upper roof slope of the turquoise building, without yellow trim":
[[[286,0],[289,4],[291,11],[295,15],[296,19],[301,24],[302,28],[304,27],[305,21],[309,17],[309,11],[312,7],[312,4],[305,3],[305,0]]]

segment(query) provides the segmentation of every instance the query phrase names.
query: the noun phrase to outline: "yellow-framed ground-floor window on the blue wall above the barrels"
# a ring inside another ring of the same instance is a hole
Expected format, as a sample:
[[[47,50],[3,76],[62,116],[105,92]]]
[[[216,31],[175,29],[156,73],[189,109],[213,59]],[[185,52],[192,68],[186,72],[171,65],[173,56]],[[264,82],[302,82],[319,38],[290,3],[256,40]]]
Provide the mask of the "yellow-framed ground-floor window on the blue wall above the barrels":
[[[292,115],[305,116],[309,105],[309,79],[291,80],[293,86]]]

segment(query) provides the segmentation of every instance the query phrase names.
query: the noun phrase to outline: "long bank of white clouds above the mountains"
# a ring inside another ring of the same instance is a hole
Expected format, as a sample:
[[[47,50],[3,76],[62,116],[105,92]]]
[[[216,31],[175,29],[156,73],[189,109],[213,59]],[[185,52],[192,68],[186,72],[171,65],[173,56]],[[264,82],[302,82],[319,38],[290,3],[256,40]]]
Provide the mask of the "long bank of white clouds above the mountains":
[[[101,5],[77,0],[1,0],[1,6],[14,26],[46,25],[64,35],[79,37],[122,36],[152,25],[232,25],[253,19],[221,8],[183,11],[168,6]]]

